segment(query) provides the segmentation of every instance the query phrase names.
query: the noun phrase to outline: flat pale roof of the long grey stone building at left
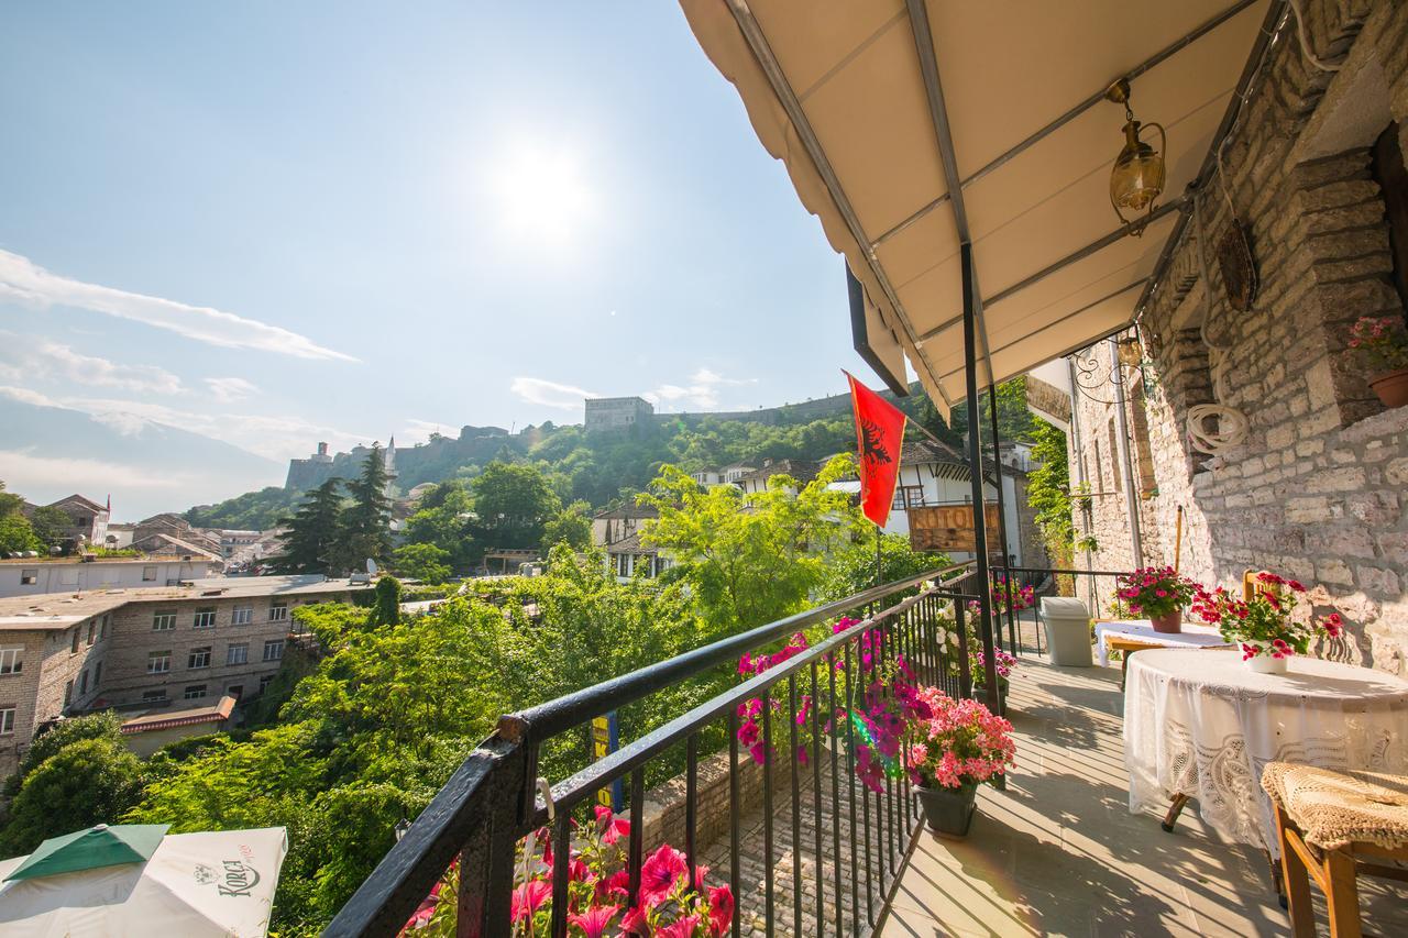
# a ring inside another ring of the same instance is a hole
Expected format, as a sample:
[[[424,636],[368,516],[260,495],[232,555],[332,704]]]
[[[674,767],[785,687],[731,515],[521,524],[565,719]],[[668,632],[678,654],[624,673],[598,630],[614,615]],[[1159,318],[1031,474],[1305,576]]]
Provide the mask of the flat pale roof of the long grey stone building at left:
[[[176,603],[200,599],[277,599],[282,596],[322,596],[348,590],[369,590],[370,583],[329,580],[318,573],[303,576],[211,576],[191,580],[190,586],[149,586],[118,590],[90,590],[84,593],[38,593],[0,599],[0,625],[7,628],[63,628],[75,621],[99,615],[128,603]],[[46,625],[52,617],[62,624]]]

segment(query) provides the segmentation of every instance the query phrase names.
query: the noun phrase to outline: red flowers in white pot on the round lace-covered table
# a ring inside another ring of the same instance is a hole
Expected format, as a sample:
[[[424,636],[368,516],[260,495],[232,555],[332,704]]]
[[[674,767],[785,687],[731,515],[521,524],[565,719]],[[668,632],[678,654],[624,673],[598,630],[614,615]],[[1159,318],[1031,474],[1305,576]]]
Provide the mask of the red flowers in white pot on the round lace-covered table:
[[[1345,631],[1339,613],[1294,620],[1295,597],[1302,593],[1305,586],[1298,580],[1262,572],[1256,575],[1252,599],[1236,599],[1219,586],[1212,593],[1200,593],[1193,610],[1242,649],[1247,668],[1264,675],[1284,675],[1291,655],[1304,655],[1316,634],[1336,638]]]

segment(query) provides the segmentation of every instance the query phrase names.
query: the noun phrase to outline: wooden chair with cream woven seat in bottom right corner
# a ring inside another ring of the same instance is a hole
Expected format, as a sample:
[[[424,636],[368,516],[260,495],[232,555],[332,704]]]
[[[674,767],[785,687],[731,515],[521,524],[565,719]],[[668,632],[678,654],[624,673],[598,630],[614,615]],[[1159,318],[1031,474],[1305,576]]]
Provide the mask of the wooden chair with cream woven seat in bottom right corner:
[[[1325,893],[1329,934],[1357,938],[1357,877],[1408,882],[1408,776],[1271,762],[1262,787],[1276,806],[1295,938],[1315,934],[1311,879]]]

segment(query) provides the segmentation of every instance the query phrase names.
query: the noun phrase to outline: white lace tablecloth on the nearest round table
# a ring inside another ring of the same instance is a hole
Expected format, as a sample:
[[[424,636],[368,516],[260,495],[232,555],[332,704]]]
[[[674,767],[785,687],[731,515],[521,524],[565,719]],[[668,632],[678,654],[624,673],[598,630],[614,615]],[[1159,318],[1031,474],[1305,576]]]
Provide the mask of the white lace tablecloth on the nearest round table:
[[[1125,682],[1129,811],[1197,800],[1221,835],[1277,855],[1267,762],[1408,773],[1408,680],[1318,658],[1257,675],[1239,651],[1142,651]]]

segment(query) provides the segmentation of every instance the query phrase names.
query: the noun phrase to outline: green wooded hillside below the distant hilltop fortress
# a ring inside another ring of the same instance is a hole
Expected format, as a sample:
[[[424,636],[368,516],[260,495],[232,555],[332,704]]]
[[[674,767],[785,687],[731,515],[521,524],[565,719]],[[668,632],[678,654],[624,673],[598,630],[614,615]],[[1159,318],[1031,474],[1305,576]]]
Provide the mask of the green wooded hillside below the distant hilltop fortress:
[[[907,399],[888,393],[886,397],[914,423],[949,442],[962,444],[966,421],[955,420],[955,428],[946,427],[918,387]],[[998,415],[1004,438],[1028,437],[1031,417],[1019,380],[1002,386]],[[551,423],[514,435],[497,428],[466,427],[458,438],[436,435],[411,448],[397,448],[396,487],[406,493],[424,482],[470,479],[493,461],[527,459],[549,472],[565,501],[582,500],[598,508],[643,489],[666,462],[698,472],[731,462],[824,459],[853,448],[850,399],[845,394],[750,414],[659,414],[653,425],[636,427],[629,434],[589,435],[580,425],[555,427]],[[296,469],[290,472],[297,483],[291,489],[249,492],[215,506],[191,508],[186,517],[193,524],[210,527],[272,527],[297,503],[301,490],[331,476],[353,476],[358,459],[339,454],[334,462],[296,465]]]

